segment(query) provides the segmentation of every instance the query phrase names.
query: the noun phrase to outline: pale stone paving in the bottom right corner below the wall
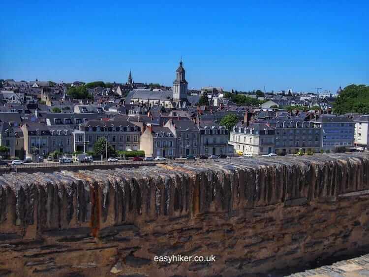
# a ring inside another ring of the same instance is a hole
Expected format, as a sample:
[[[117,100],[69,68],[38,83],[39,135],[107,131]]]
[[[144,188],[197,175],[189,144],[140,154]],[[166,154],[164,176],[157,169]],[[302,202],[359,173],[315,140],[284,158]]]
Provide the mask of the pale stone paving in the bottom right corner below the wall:
[[[329,266],[322,266],[289,277],[369,277],[369,254],[358,258],[343,260]]]

